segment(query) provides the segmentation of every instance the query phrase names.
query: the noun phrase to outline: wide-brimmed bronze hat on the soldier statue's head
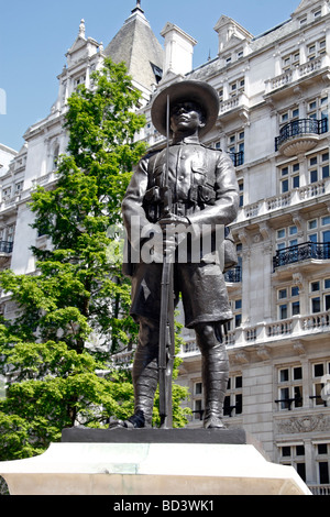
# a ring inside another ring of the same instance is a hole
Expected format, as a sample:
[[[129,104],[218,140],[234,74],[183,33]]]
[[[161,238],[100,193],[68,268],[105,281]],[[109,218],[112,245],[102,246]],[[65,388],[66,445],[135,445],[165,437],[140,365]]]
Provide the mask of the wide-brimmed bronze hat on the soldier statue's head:
[[[215,125],[219,112],[219,96],[215,88],[201,80],[182,80],[164,88],[154,99],[151,116],[154,127],[166,136],[167,96],[169,106],[177,102],[196,102],[205,114],[205,127],[199,135],[208,133]]]

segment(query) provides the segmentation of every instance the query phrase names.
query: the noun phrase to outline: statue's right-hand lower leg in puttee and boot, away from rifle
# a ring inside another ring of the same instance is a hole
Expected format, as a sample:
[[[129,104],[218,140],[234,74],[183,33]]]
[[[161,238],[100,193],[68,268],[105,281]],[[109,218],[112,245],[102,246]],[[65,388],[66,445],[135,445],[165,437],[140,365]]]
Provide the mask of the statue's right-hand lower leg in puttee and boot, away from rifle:
[[[222,417],[229,378],[229,361],[221,326],[220,323],[198,326],[196,336],[202,356],[204,427],[226,429]]]

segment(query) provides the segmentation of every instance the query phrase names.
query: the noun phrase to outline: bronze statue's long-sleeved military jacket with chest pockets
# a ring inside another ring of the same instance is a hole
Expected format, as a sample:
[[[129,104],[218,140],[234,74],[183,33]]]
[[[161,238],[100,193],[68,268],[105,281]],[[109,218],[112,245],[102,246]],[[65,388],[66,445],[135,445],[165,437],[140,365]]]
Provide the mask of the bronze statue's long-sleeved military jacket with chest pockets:
[[[135,251],[141,249],[145,228],[161,217],[165,172],[166,148],[150,152],[140,161],[128,187],[122,215],[129,246]],[[206,147],[197,139],[169,145],[168,186],[172,211],[187,217],[196,235],[212,233],[216,227],[227,227],[237,217],[239,187],[231,158],[222,151]],[[213,260],[213,252],[211,258],[201,256],[201,262]],[[123,271],[132,274],[130,264],[125,264]]]

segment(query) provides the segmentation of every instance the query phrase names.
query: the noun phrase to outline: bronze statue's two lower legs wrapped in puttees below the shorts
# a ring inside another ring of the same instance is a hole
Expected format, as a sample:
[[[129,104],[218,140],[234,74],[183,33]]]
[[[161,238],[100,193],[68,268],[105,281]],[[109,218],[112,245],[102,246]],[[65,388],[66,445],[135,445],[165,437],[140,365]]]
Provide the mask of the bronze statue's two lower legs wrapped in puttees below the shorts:
[[[202,356],[205,427],[223,427],[223,400],[229,376],[229,362],[219,323],[198,323],[197,344]],[[158,382],[160,328],[155,321],[140,318],[139,345],[133,364],[135,397],[134,418],[139,427],[150,427],[154,395]]]

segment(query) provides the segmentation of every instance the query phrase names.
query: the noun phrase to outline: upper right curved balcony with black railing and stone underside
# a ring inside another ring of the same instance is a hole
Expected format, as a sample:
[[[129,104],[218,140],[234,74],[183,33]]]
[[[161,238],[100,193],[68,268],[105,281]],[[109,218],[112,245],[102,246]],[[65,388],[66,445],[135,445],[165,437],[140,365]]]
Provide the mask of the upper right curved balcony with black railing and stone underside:
[[[296,156],[316,146],[319,135],[327,133],[328,119],[299,119],[284,125],[275,139],[275,151]]]

